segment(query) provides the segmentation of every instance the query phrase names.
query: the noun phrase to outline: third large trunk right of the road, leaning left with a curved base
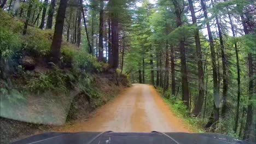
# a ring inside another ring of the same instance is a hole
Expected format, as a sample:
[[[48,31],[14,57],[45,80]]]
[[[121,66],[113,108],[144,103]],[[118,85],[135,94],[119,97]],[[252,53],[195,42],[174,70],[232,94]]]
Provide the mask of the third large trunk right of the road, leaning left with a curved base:
[[[205,19],[208,20],[205,1],[204,0],[200,0],[200,1],[202,5],[203,15],[205,16]],[[214,45],[213,45],[212,32],[211,32],[210,23],[208,21],[206,22],[206,27],[207,27],[208,37],[210,41],[212,73],[213,73],[213,97],[214,97],[213,115],[211,115],[209,122],[207,123],[207,127],[211,127],[212,124],[214,124],[213,126],[215,126],[219,120],[219,83],[218,83],[217,65],[216,65],[216,57],[215,57],[215,51],[214,51]]]

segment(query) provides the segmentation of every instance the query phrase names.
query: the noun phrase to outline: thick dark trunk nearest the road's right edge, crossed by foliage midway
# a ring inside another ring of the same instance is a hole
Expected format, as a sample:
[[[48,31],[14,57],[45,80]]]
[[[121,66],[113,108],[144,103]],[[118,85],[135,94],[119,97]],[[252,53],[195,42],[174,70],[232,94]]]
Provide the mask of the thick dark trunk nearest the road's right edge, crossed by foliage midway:
[[[172,2],[174,4],[174,8],[175,8],[177,27],[181,27],[182,26],[181,5],[177,2],[177,0],[173,0]],[[184,5],[182,7],[184,7]],[[187,60],[186,60],[185,39],[184,38],[179,40],[179,52],[181,53],[182,101],[184,101],[184,104],[187,107],[189,107],[188,71],[187,71]]]

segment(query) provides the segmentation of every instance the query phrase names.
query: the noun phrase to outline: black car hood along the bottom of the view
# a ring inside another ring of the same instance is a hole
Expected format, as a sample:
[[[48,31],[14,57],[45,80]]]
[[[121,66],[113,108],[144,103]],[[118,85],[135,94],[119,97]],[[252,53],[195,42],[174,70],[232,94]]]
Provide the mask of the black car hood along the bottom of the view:
[[[73,143],[73,144],[183,144],[183,143],[207,143],[207,144],[225,144],[225,143],[248,143],[240,141],[233,137],[217,133],[114,133],[112,131],[101,132],[78,132],[78,133],[43,133],[27,137],[26,139],[14,142],[23,143]],[[13,143],[13,144],[14,144]]]

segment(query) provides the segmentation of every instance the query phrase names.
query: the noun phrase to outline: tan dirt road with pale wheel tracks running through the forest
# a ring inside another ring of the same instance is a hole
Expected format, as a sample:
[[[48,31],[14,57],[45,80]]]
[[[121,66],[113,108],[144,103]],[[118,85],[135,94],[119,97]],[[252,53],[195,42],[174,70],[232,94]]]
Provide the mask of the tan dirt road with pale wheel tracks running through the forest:
[[[58,131],[182,131],[189,133],[181,118],[173,115],[169,107],[149,85],[133,84],[117,98],[96,111],[87,121],[66,124]]]

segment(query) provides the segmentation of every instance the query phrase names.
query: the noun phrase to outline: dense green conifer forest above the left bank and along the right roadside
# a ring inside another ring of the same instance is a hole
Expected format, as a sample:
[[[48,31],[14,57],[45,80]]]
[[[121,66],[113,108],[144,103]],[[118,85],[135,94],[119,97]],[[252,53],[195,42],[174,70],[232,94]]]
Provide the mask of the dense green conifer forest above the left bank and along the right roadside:
[[[42,45],[48,49],[39,51],[58,67],[63,68],[63,55],[71,52],[63,43],[71,43],[97,58],[104,69],[129,75],[133,83],[154,85],[171,103],[183,101],[186,115],[204,130],[255,141],[255,1],[3,0],[0,4],[2,14],[22,21],[22,35],[29,35],[30,27],[43,29],[45,35],[53,33],[51,44]],[[19,45],[7,32],[1,27],[3,80],[7,80],[4,65]]]

